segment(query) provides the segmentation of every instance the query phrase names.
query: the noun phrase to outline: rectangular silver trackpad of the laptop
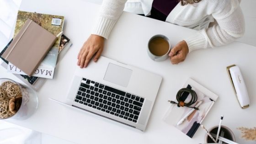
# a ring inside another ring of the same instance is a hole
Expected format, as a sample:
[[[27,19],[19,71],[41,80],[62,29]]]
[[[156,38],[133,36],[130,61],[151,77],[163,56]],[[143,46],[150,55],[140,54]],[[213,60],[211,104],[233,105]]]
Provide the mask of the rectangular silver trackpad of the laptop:
[[[104,80],[127,87],[133,70],[109,63]]]

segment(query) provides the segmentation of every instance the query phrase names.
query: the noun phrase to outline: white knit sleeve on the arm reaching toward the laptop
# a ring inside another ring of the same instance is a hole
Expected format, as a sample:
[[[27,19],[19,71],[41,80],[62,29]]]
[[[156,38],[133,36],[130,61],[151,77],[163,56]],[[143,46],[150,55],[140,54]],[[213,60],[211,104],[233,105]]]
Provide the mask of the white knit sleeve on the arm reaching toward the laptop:
[[[99,35],[107,39],[118,18],[121,16],[126,1],[127,0],[103,0],[96,25],[91,34]]]

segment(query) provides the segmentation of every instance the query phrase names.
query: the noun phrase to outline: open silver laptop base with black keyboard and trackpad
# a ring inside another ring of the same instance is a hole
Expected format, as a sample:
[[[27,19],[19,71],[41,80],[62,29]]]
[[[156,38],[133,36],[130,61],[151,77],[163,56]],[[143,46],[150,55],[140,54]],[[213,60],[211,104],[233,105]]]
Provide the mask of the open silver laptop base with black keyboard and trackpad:
[[[145,130],[161,76],[101,57],[77,67],[66,104]]]

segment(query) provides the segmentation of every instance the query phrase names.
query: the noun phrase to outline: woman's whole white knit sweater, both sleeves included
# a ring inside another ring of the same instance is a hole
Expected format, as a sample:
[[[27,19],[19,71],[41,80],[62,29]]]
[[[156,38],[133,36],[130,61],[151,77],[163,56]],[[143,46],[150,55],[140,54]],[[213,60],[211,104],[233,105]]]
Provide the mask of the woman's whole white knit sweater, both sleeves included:
[[[152,2],[153,0],[103,0],[92,34],[107,39],[123,9],[150,15]],[[217,22],[209,27],[214,19]],[[166,22],[198,30],[195,35],[184,37],[189,52],[230,43],[242,37],[245,32],[240,0],[202,0],[184,6],[179,3],[167,16]]]

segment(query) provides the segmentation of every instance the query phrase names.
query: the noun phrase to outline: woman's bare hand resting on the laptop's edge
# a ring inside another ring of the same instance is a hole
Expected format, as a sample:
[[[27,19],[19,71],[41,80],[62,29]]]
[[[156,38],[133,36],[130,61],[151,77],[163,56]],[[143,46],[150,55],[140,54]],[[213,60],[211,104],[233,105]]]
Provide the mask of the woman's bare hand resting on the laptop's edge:
[[[104,41],[104,37],[91,35],[77,55],[77,65],[80,66],[80,68],[86,68],[94,55],[93,60],[97,62],[103,51]]]

